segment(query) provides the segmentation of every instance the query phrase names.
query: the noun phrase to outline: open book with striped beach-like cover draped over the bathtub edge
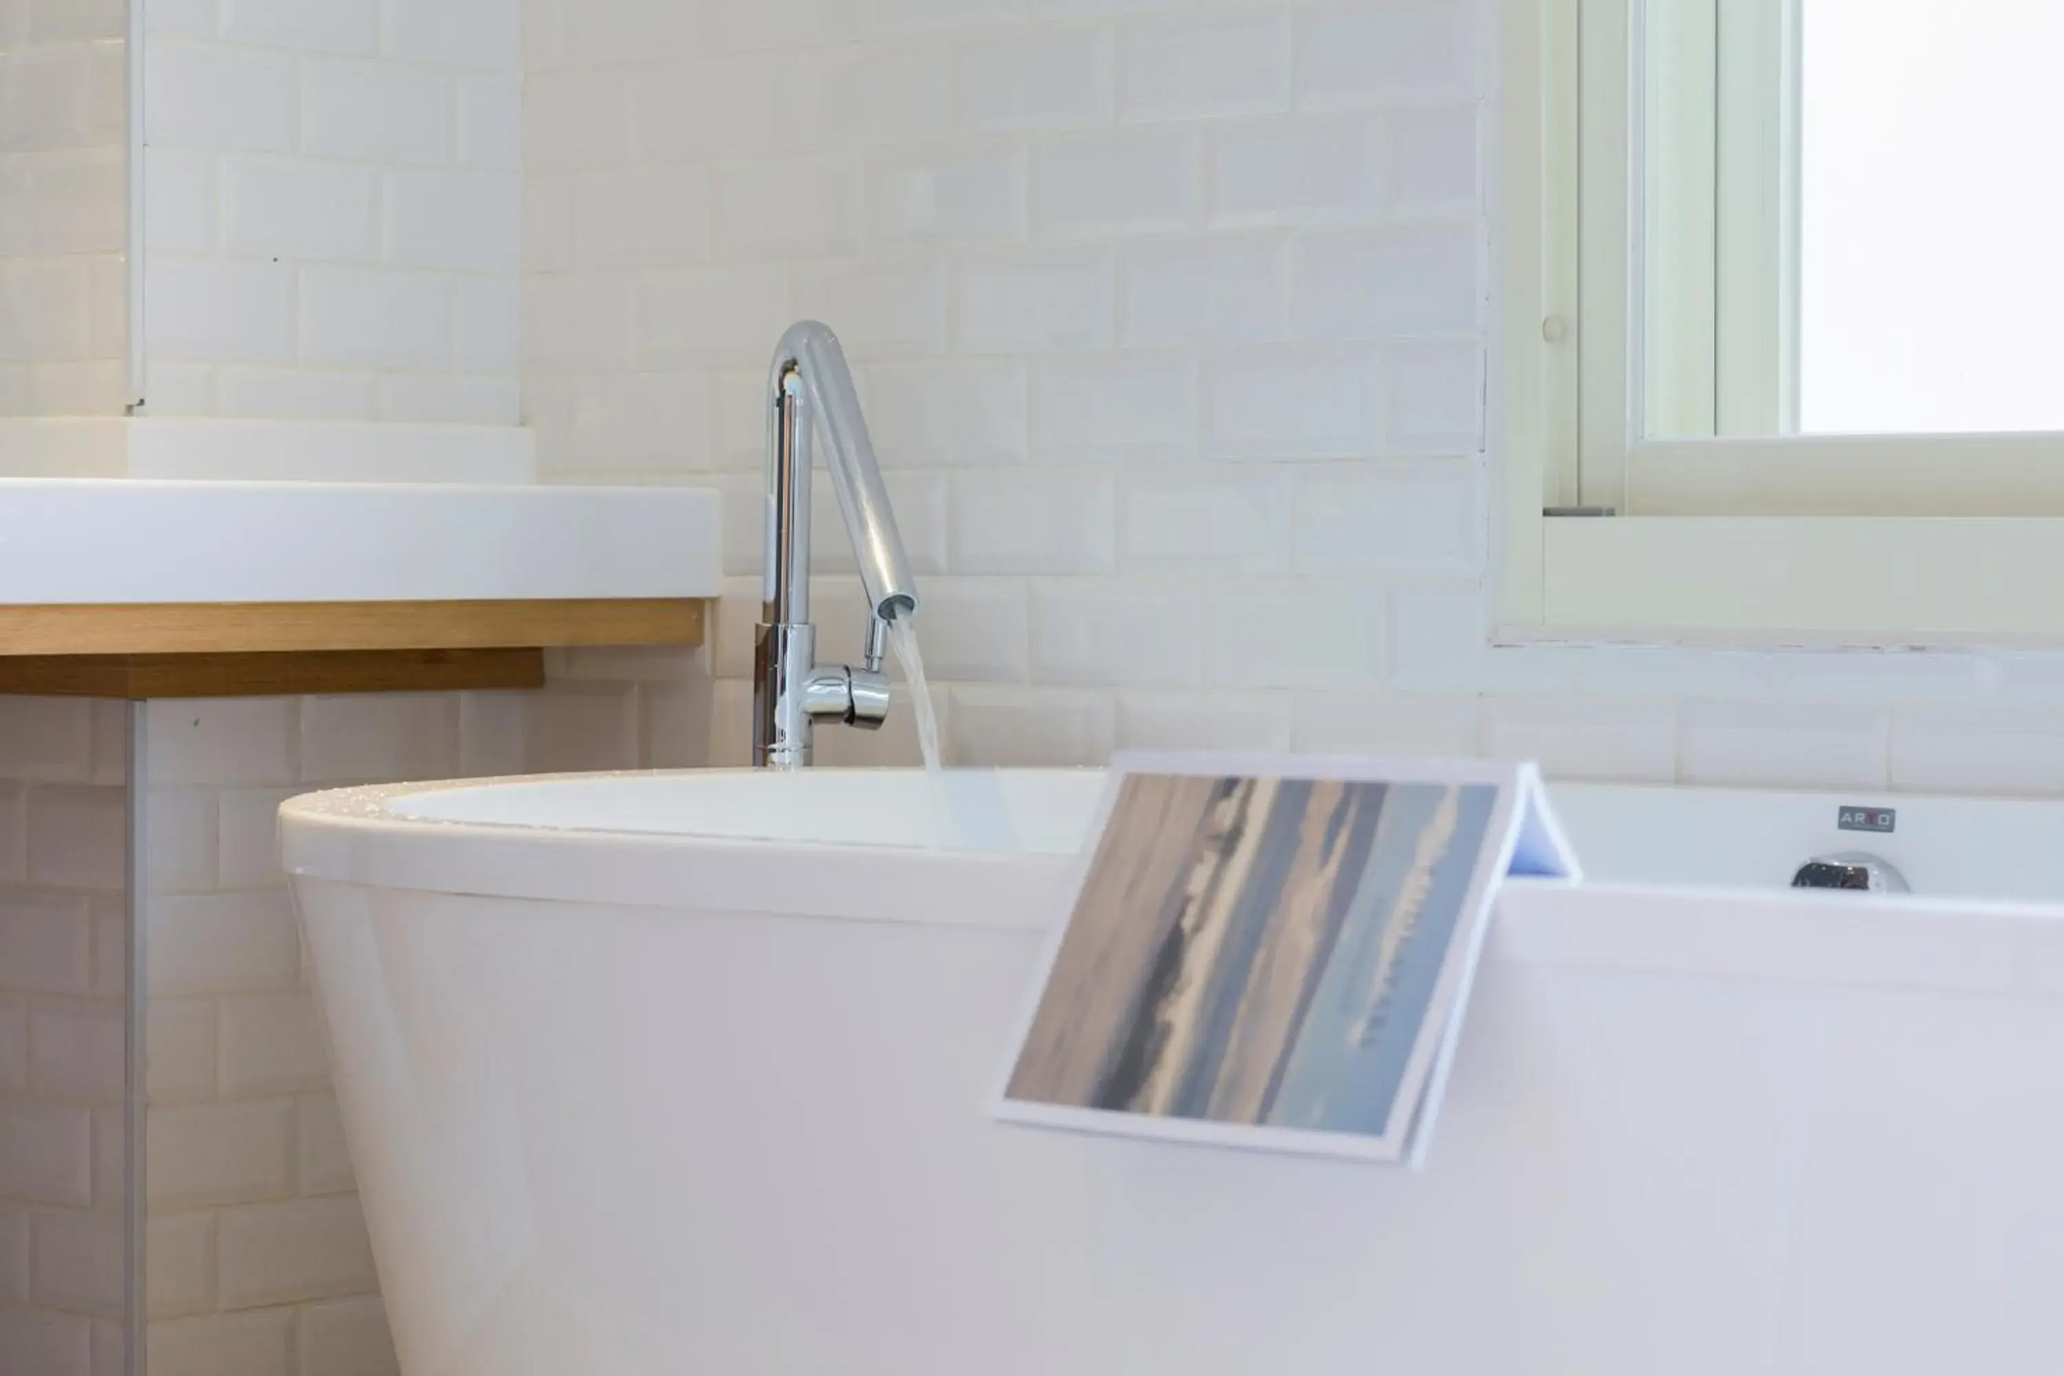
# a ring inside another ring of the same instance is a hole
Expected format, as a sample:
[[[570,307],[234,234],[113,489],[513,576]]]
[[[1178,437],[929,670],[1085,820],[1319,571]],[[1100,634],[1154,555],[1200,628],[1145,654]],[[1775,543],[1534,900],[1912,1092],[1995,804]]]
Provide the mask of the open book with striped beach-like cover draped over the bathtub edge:
[[[1416,1166],[1498,883],[1577,879],[1534,765],[1123,755],[1009,1122]]]

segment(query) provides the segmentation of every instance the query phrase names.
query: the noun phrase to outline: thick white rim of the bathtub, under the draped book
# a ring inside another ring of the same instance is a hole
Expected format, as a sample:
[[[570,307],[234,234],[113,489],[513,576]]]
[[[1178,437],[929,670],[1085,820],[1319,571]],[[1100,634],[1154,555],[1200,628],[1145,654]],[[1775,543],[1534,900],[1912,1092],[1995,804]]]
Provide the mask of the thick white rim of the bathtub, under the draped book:
[[[557,829],[394,817],[394,798],[504,784],[694,778],[702,769],[369,784],[281,807],[295,885],[586,910],[1042,932],[1079,856]],[[2064,998],[2064,906],[1649,883],[1509,879],[1486,955],[1618,974]]]

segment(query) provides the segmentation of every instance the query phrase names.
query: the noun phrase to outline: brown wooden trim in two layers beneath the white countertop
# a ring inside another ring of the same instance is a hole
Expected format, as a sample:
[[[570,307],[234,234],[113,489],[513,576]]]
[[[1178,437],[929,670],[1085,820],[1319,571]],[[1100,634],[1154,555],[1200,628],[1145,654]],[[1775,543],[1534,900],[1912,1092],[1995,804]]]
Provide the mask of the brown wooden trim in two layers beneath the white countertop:
[[[700,646],[694,598],[0,607],[0,695],[535,689],[543,648]]]

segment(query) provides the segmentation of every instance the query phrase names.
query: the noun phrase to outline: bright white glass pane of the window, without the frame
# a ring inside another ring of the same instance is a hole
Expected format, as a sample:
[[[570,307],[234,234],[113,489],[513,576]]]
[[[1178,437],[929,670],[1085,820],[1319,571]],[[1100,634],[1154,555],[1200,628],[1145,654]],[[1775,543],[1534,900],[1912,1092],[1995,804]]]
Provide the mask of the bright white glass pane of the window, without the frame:
[[[2064,429],[2064,4],[1802,21],[1800,429]]]

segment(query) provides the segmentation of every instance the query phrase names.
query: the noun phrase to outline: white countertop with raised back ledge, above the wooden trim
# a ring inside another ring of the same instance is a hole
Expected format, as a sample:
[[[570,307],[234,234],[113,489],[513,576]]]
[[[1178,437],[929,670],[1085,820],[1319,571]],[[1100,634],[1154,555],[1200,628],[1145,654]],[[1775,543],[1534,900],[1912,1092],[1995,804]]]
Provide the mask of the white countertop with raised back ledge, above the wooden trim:
[[[516,427],[0,423],[0,604],[710,598],[718,499],[537,487]],[[258,474],[287,481],[256,481]],[[338,474],[382,481],[322,481]]]

